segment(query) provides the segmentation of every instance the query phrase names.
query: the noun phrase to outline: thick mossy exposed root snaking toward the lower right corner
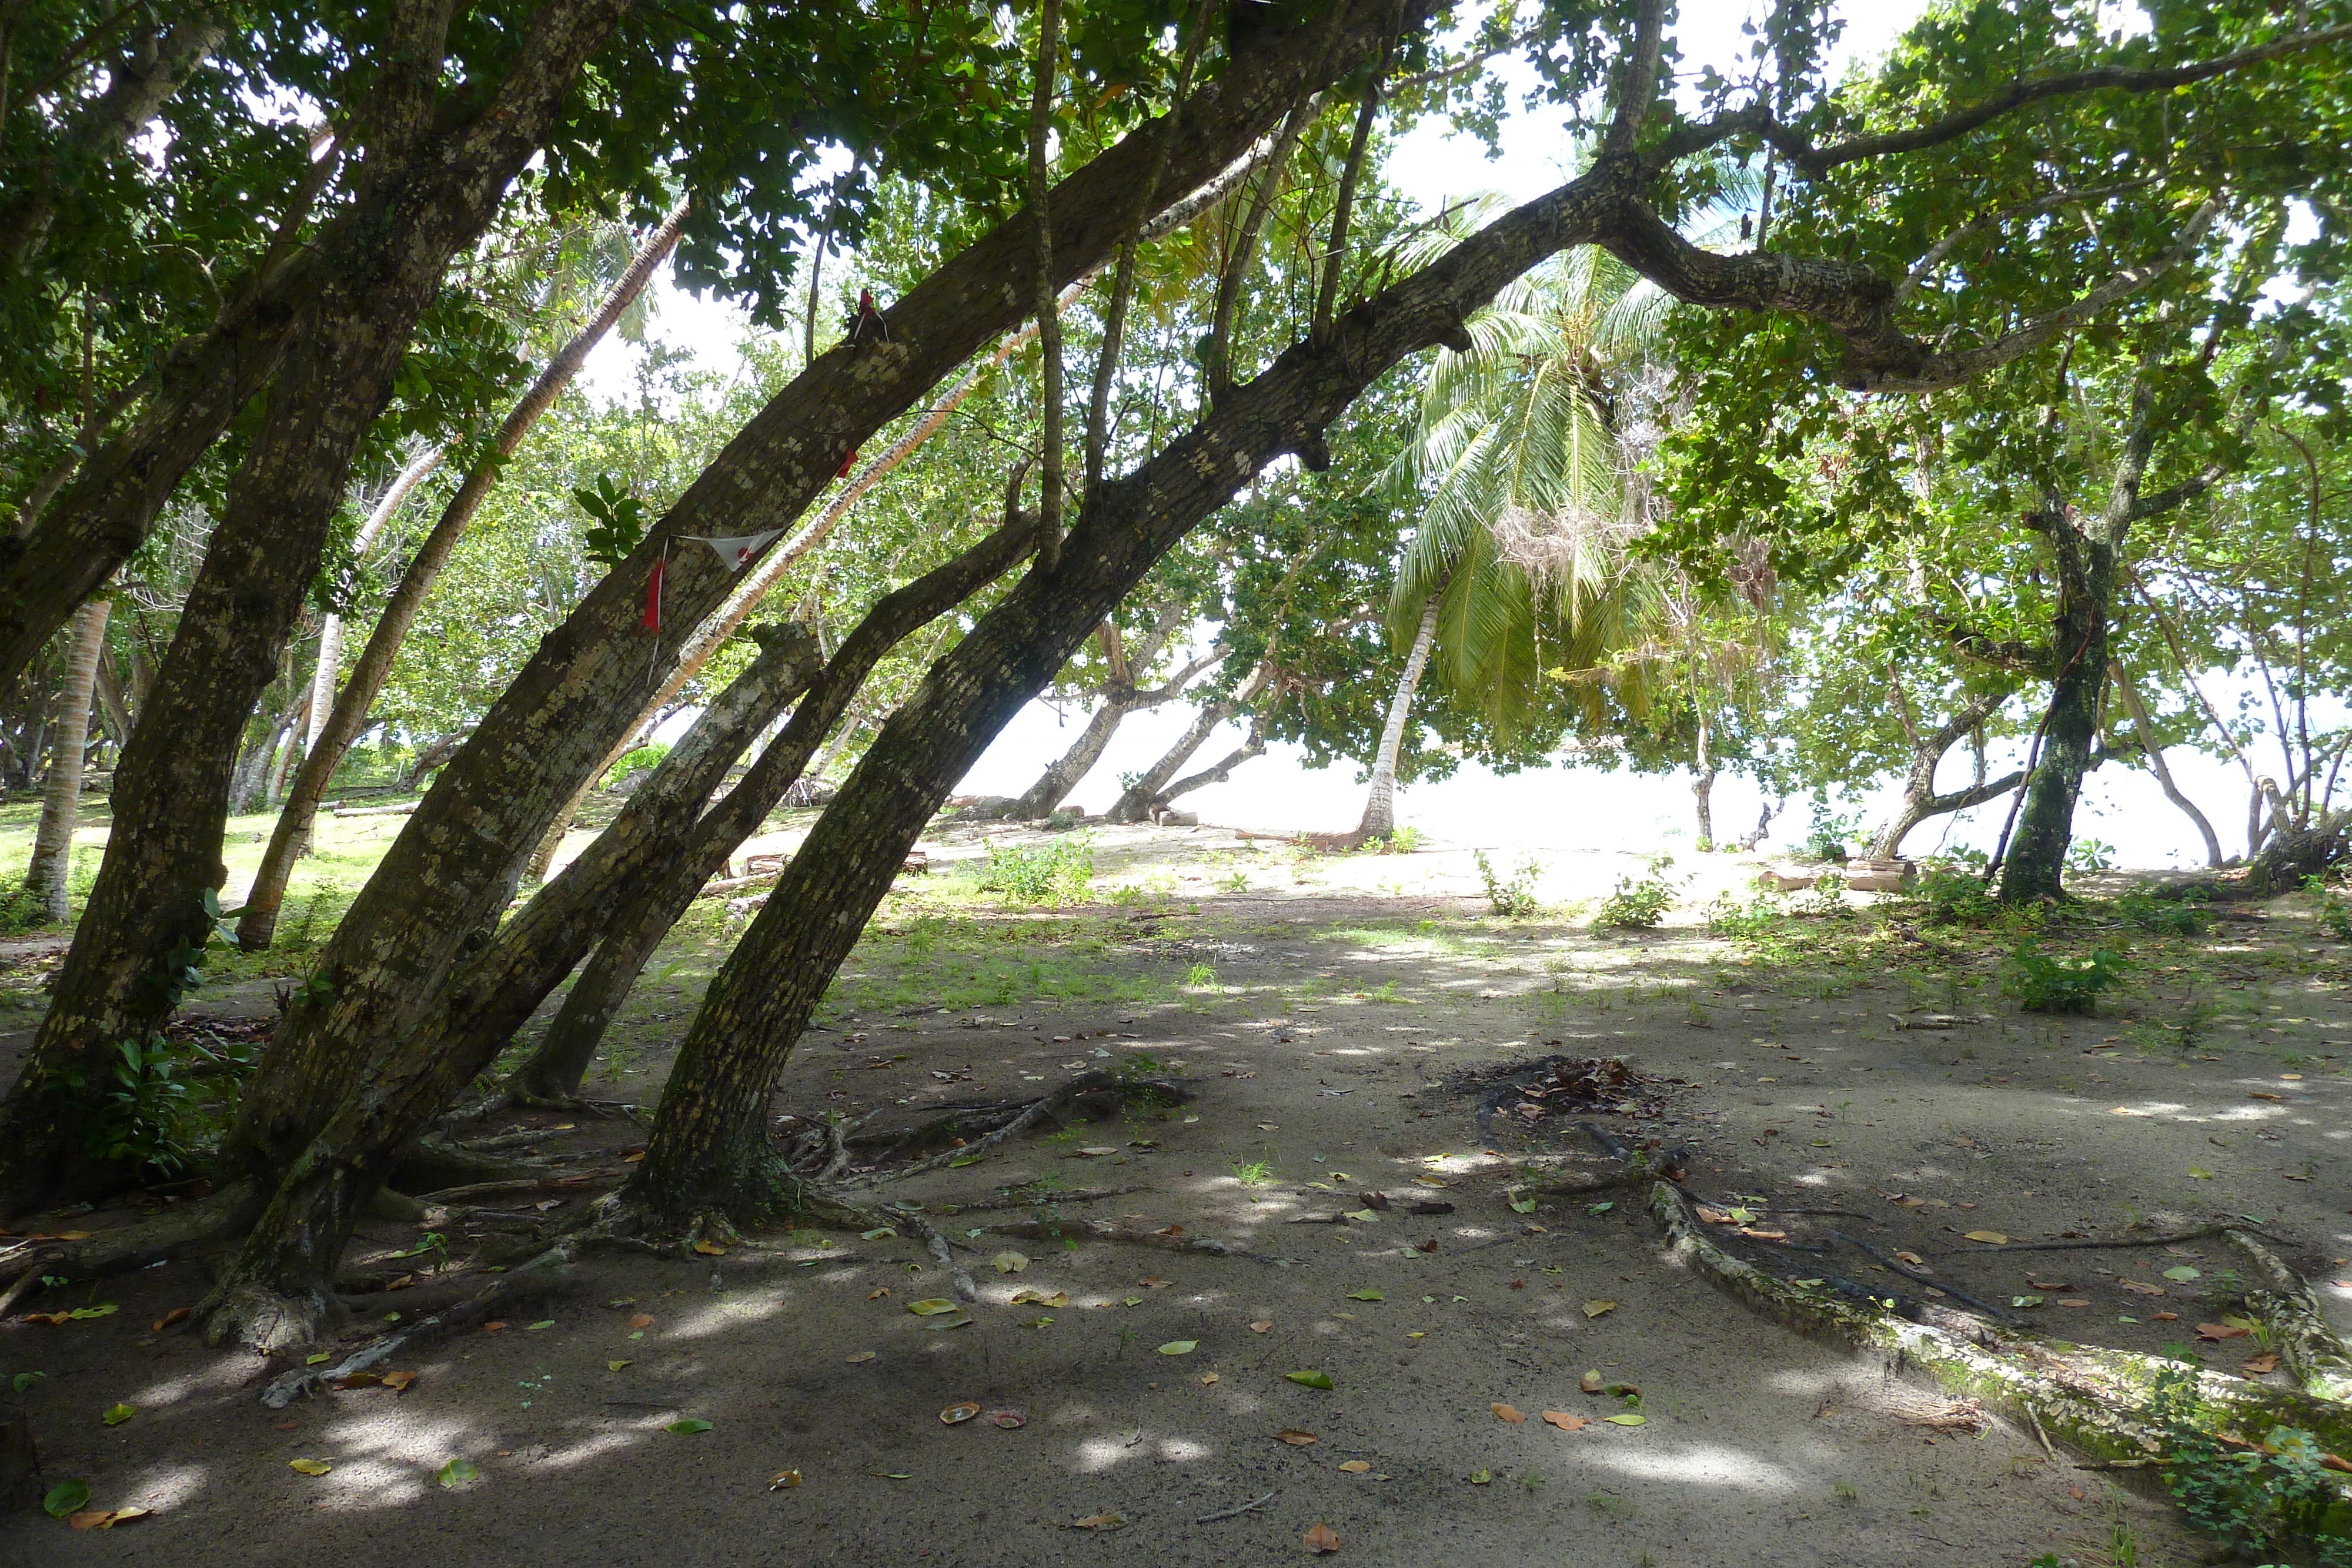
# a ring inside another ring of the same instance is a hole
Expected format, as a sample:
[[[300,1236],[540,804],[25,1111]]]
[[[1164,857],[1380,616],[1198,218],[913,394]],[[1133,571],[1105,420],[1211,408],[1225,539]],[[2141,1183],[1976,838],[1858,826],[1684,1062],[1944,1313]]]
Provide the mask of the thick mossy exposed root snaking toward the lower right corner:
[[[2183,1363],[2091,1349],[1992,1326],[1952,1331],[1915,1324],[1875,1305],[1809,1291],[1717,1248],[1693,1220],[1682,1192],[1651,1187],[1651,1218],[1665,1229],[1672,1255],[1715,1286],[1797,1333],[1886,1352],[1917,1366],[1952,1394],[2006,1408],[2027,1425],[2100,1460],[2147,1460],[2161,1453],[2150,1413],[2161,1373]],[[2352,1408],[2225,1373],[2197,1371],[2194,1396],[2230,1439],[2260,1443],[2274,1427],[2310,1432],[2331,1453],[2352,1450]],[[2345,1490],[2352,1497],[2352,1490]]]

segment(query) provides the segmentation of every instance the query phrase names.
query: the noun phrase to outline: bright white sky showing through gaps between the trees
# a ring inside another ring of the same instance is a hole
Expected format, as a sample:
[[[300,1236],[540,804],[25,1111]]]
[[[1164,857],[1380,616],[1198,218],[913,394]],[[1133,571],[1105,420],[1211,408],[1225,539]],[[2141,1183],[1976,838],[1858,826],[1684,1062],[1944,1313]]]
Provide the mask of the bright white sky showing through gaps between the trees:
[[[1684,0],[1679,24],[1684,71],[1696,73],[1703,63],[1712,63],[1719,73],[1733,75],[1748,59],[1740,21],[1757,9],[1748,0]],[[1839,40],[1835,71],[1842,73],[1853,61],[1882,54],[1919,9],[1924,9],[1922,0],[1842,7],[1846,35]],[[1524,66],[1503,63],[1503,68],[1515,73],[1515,85],[1529,80]],[[1421,195],[1425,205],[1477,190],[1501,190],[1515,200],[1529,200],[1566,179],[1569,150],[1569,136],[1557,115],[1517,115],[1505,129],[1498,160],[1486,160],[1477,141],[1451,134],[1444,122],[1425,122],[1402,139],[1388,172],[1395,183]],[[689,348],[710,364],[729,367],[736,360],[734,346],[741,331],[743,322],[734,310],[684,296],[668,282],[661,284],[656,320],[661,339]],[[633,360],[635,350],[607,341],[588,364],[586,386],[604,395],[626,393]],[[1082,722],[1082,712],[1056,712],[1044,703],[1030,703],[974,766],[964,790],[978,795],[1025,790],[1044,764],[1077,738]],[[1190,710],[1183,705],[1131,717],[1103,762],[1080,785],[1073,804],[1089,811],[1105,809],[1120,792],[1120,773],[1141,771],[1157,759],[1188,722]],[[1211,736],[1195,764],[1221,757],[1240,741],[1240,729],[1228,726]],[[2016,757],[1997,755],[1994,769],[2013,766],[2013,762]],[[2244,849],[2246,785],[2234,764],[2185,750],[2173,752],[2171,762],[2183,790],[2206,809],[2220,830],[2223,849]],[[1964,757],[1947,759],[1952,771],[1943,780],[1945,788],[1955,783],[1962,766],[1966,766]],[[1893,790],[1870,795],[1860,809],[1863,816],[1877,820],[1891,797]],[[1748,780],[1729,776],[1717,780],[1715,802],[1719,835],[1733,837],[1755,825],[1759,795]],[[1232,783],[1200,790],[1183,804],[1200,809],[1204,820],[1214,823],[1263,830],[1345,830],[1362,813],[1364,790],[1348,766],[1310,771],[1298,766],[1296,755],[1275,748],[1240,769]],[[1926,853],[1945,837],[1955,846],[1990,849],[2004,813],[2006,802],[1983,806],[1959,820],[1929,823],[1912,835],[1905,849]],[[1776,820],[1776,835],[1766,849],[1785,849],[1802,839],[1806,816],[1806,802],[1792,802]],[[1689,846],[1693,837],[1686,776],[1656,778],[1573,766],[1498,778],[1472,764],[1451,780],[1402,790],[1399,820],[1442,842],[1498,849],[1569,844],[1651,851]],[[2124,865],[2201,863],[2199,842],[2187,818],[2138,769],[2107,766],[2091,776],[2077,816],[2077,835],[2112,844]]]

